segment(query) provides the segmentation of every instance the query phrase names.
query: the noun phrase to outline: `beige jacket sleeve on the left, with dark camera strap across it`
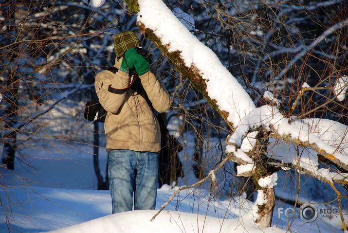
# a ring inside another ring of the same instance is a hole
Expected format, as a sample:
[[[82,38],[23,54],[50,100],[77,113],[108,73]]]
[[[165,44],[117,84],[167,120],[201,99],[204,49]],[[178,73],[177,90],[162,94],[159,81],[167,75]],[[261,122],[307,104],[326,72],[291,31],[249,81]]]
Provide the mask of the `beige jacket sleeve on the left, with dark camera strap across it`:
[[[117,113],[119,108],[122,106],[126,92],[122,94],[115,94],[109,91],[111,88],[123,89],[128,85],[128,74],[122,71],[116,73],[110,71],[102,71],[97,73],[94,87],[99,98],[100,104],[108,112]]]

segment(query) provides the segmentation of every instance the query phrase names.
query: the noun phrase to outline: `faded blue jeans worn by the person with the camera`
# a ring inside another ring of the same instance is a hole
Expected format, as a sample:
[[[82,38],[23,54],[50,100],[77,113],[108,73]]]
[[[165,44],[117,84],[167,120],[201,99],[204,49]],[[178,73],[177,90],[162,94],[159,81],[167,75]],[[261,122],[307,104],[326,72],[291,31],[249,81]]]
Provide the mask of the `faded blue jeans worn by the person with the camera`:
[[[109,189],[112,214],[154,210],[157,196],[158,154],[132,150],[109,152]]]

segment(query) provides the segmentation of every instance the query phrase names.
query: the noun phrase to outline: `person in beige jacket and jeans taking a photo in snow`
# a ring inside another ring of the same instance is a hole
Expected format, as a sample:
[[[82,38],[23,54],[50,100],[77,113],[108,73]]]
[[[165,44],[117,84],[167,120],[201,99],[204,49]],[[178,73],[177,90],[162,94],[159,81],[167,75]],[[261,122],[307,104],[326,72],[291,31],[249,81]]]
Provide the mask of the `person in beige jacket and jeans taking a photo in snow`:
[[[133,202],[135,210],[154,210],[156,205],[161,132],[153,109],[165,112],[171,100],[139,48],[134,33],[117,34],[115,69],[97,73],[94,83],[108,112],[104,127],[112,214],[131,211]]]

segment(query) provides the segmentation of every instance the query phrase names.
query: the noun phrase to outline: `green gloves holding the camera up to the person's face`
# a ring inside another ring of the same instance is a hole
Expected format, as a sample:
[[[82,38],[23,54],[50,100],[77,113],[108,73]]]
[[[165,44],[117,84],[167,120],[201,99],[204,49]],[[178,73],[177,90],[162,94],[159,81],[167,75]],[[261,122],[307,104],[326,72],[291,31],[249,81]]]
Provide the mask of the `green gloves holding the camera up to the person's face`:
[[[126,51],[124,59],[127,61],[127,65],[130,70],[133,70],[135,68],[139,76],[145,74],[150,70],[150,64],[148,63],[147,59],[138,54],[134,48],[128,49]]]

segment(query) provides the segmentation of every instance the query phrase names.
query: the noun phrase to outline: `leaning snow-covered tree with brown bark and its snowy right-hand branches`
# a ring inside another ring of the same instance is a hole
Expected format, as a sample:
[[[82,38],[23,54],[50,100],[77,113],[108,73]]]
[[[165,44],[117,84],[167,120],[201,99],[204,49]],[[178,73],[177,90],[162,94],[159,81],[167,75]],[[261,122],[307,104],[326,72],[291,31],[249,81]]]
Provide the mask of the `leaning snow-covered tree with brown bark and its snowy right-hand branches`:
[[[241,147],[243,139],[249,133],[263,130],[265,135],[281,139],[284,143],[309,147],[317,154],[330,160],[337,167],[347,171],[348,142],[346,136],[348,128],[346,125],[315,118],[300,119],[289,123],[289,118],[285,117],[276,107],[264,105],[256,108],[246,91],[239,85],[236,78],[227,72],[216,55],[186,30],[162,1],[158,0],[148,4],[145,0],[138,0],[138,3],[138,26],[142,33],[150,38],[163,54],[169,57],[176,69],[182,72],[203,93],[208,102],[224,116],[228,125],[234,130],[227,141],[227,156],[237,157],[236,162],[239,163],[242,163],[242,161],[245,163],[255,162],[256,159],[247,156],[246,151],[243,151]],[[129,6],[129,8],[134,9],[132,6]],[[313,48],[317,42],[322,41],[325,36],[345,27],[346,24],[343,21],[328,28],[322,36],[312,42],[306,51]],[[168,28],[167,25],[171,25],[171,27]],[[289,63],[287,69],[295,63],[294,59]],[[208,65],[206,64],[207,61],[209,61]],[[279,72],[278,77],[283,74],[284,72]],[[251,144],[252,150],[259,151],[260,145],[257,146],[256,144]],[[267,151],[262,156],[267,157]],[[262,160],[270,166],[273,166],[275,161],[267,158]],[[299,168],[302,172],[307,172],[308,175],[325,182],[346,183],[348,181],[347,177],[339,171],[330,172],[329,169],[319,169],[318,158],[310,160],[308,158],[298,158],[297,160],[296,158],[293,161],[288,161],[288,158],[277,158],[276,161],[279,164],[294,164],[294,167]],[[262,170],[261,176],[258,172],[257,180],[272,175],[272,169],[265,166],[266,164],[255,164],[258,169]],[[281,166],[279,164],[278,167]],[[338,179],[337,176],[339,176]],[[334,177],[336,178],[334,179]],[[264,194],[268,195],[266,198],[271,201],[270,193],[267,190],[267,186],[264,187]],[[258,206],[260,207],[265,203],[267,201],[258,204]],[[273,208],[266,210],[262,215],[267,215],[270,212],[273,212]],[[259,217],[262,218],[263,216]],[[270,221],[272,214],[267,219]],[[345,220],[342,219],[342,222],[343,228],[346,229]],[[261,227],[267,226],[270,226],[270,224],[261,223]]]

